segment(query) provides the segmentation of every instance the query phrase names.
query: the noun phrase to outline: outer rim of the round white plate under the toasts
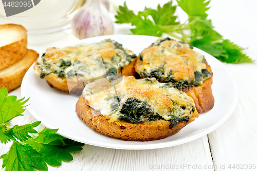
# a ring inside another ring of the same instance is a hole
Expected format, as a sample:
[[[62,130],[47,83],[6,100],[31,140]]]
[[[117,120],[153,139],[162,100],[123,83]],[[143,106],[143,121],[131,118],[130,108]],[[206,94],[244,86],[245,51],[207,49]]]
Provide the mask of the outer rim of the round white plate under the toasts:
[[[115,37],[115,36],[147,36],[147,37],[155,37],[156,39],[158,39],[158,37],[156,36],[148,36],[148,35],[126,35],[126,34],[115,34],[115,35],[103,35],[103,36],[97,36],[97,37],[102,37],[104,39],[104,37]],[[67,43],[66,46],[72,46],[72,45],[75,45],[75,44],[79,44],[79,43],[83,43],[85,40],[94,40],[96,39],[96,37],[90,37],[88,39],[83,39],[83,40],[78,40],[78,41],[74,41],[74,42],[69,42]],[[112,38],[109,38],[109,39],[112,39]],[[65,46],[61,46],[61,47],[65,47]],[[207,53],[203,50],[200,50],[196,47],[194,47],[194,49],[197,49],[197,51],[199,51],[200,53]],[[207,53],[208,55],[210,55],[209,53]],[[208,134],[210,134],[210,132],[214,131],[215,129],[217,129],[219,126],[221,126],[223,123],[225,123],[228,118],[232,115],[233,111],[235,110],[235,107],[237,106],[237,103],[238,103],[238,86],[236,84],[236,81],[233,77],[233,75],[230,73],[230,71],[228,70],[228,68],[221,62],[221,61],[218,61],[216,58],[214,58],[212,55],[210,55],[214,61],[218,62],[219,63],[219,66],[221,66],[223,69],[226,70],[226,72],[228,73],[231,81],[232,81],[232,84],[234,85],[235,87],[235,91],[233,92],[234,93],[234,96],[235,98],[233,98],[233,102],[232,102],[232,105],[230,106],[229,110],[225,113],[225,115],[218,120],[218,122],[216,122],[215,124],[213,124],[212,126],[208,127],[207,129],[203,130],[203,131],[200,131],[198,132],[196,135],[191,135],[189,137],[186,137],[186,138],[183,138],[183,139],[180,139],[180,140],[174,140],[172,141],[172,144],[171,142],[162,142],[162,143],[157,143],[157,144],[136,144],[136,145],[131,145],[131,144],[110,144],[110,143],[104,143],[104,142],[98,142],[98,141],[91,141],[89,139],[86,139],[86,141],[84,141],[85,139],[81,139],[81,138],[75,138],[75,137],[67,137],[65,135],[65,132],[63,131],[60,131],[58,130],[57,133],[60,134],[61,136],[64,136],[66,138],[69,138],[69,139],[72,139],[72,140],[75,140],[75,141],[78,141],[78,142],[82,142],[82,143],[85,143],[85,144],[88,144],[88,145],[94,145],[94,146],[99,146],[99,147],[105,147],[105,148],[113,148],[113,149],[129,149],[129,150],[141,150],[141,149],[158,149],[158,148],[166,148],[166,147],[171,147],[171,146],[176,146],[176,145],[180,145],[180,144],[185,144],[185,143],[188,143],[188,142],[191,142],[191,141],[194,141],[196,139],[199,139],[201,137],[204,137]],[[35,64],[35,63],[34,63]],[[27,80],[27,77],[28,77],[28,74],[29,72],[33,72],[33,66],[34,64],[28,69],[28,71],[26,72],[25,76],[24,76],[24,79],[22,81],[22,85],[21,85],[21,94],[22,94],[22,97],[25,97],[25,81]],[[31,71],[32,70],[32,71]],[[26,106],[26,109],[31,113],[31,115],[38,121],[41,121],[41,124],[43,124],[45,127],[48,127],[48,128],[51,128],[52,125],[49,125],[47,122],[43,121],[40,116],[38,116],[36,114],[36,112],[34,111],[34,109],[31,107],[31,105],[29,106]],[[155,141],[158,141],[158,140],[155,140]]]

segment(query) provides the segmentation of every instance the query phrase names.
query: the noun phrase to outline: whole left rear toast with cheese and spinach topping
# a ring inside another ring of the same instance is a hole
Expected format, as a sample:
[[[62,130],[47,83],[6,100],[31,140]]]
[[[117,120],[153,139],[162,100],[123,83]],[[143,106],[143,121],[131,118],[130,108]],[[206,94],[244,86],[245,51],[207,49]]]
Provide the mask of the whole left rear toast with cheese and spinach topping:
[[[135,58],[136,54],[132,51],[107,39],[99,43],[82,43],[74,47],[48,48],[38,59],[34,69],[35,73],[40,75],[41,79],[45,79],[51,87],[70,92],[67,77],[76,74],[90,80],[102,71],[102,68],[99,68],[101,66],[108,75],[134,75]],[[65,72],[67,68],[76,68],[76,70]],[[74,84],[78,84],[77,80]],[[79,93],[84,86],[76,88],[73,91]]]

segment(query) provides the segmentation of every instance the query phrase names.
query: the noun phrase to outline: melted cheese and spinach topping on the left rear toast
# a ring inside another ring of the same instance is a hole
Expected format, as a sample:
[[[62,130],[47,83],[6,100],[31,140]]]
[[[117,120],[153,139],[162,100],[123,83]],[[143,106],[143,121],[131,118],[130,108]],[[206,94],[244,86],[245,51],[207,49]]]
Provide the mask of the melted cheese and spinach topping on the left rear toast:
[[[88,58],[89,56],[101,56],[101,58]],[[87,72],[94,75],[96,65],[103,64],[106,72],[110,68],[116,68],[119,71],[122,67],[128,65],[135,54],[127,49],[124,49],[121,44],[110,39],[103,40],[99,43],[82,43],[74,47],[65,48],[48,48],[43,54],[42,58],[39,58],[37,64],[41,68],[42,72],[47,75],[49,73],[56,73],[59,77],[65,77],[64,70],[74,65],[76,68],[81,68],[82,64],[78,61],[84,60],[82,63],[87,63],[83,70],[80,72]],[[76,66],[78,64],[78,66]],[[94,68],[92,68],[94,66]],[[88,74],[82,74],[88,75]]]

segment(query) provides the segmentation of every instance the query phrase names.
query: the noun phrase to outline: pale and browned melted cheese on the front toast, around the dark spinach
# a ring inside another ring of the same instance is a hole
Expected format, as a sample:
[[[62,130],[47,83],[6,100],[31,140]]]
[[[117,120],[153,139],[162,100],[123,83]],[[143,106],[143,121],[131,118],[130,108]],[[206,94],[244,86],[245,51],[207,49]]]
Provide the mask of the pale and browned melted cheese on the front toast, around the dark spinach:
[[[158,113],[164,120],[170,120],[174,116],[191,117],[196,112],[193,99],[175,88],[160,88],[163,84],[155,78],[136,80],[134,77],[122,77],[113,81],[99,79],[85,86],[83,97],[87,105],[100,111],[110,121],[118,120],[124,103],[133,98],[152,106],[154,113]],[[114,110],[112,104],[117,101],[117,97],[119,107]],[[142,118],[141,121],[148,120]]]

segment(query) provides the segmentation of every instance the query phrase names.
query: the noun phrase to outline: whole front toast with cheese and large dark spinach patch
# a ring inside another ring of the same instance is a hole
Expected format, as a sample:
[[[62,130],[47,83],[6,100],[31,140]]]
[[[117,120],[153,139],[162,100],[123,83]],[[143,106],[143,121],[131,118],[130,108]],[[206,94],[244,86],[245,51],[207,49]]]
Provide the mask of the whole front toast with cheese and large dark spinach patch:
[[[107,77],[85,86],[78,117],[93,130],[122,140],[151,141],[176,134],[198,117],[185,92],[155,78]],[[162,88],[166,87],[166,88]]]

